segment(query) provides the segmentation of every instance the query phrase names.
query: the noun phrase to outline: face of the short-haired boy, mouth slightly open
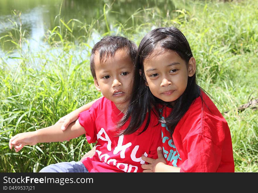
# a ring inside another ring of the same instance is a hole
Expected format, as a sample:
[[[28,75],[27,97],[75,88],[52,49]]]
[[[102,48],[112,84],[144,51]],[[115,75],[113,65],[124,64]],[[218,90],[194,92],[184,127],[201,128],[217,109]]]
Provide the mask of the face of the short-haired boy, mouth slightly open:
[[[99,53],[95,53],[95,87],[103,96],[114,102],[123,111],[129,103],[132,92],[134,66],[127,50],[117,50],[113,57],[100,62]]]

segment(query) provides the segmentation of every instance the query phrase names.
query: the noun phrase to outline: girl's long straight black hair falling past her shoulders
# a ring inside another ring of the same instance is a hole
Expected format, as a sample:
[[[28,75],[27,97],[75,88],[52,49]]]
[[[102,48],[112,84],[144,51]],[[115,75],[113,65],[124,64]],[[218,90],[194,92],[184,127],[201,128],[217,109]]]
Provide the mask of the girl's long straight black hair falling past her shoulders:
[[[189,59],[193,56],[186,37],[174,26],[156,28],[143,37],[135,58],[135,81],[133,84],[132,98],[125,115],[120,122],[118,122],[118,127],[121,127],[131,116],[129,126],[121,133],[123,135],[138,130],[143,124],[146,115],[148,115],[147,123],[143,129],[143,131],[145,131],[150,123],[150,113],[147,112],[153,111],[159,116],[158,109],[160,103],[168,106],[171,105],[171,103],[164,102],[152,95],[149,87],[145,85],[146,78],[143,62],[153,53],[157,46],[175,51],[186,64],[188,64]],[[141,71],[141,74],[139,73],[139,70]],[[174,101],[173,110],[170,115],[167,118],[164,118],[164,120],[160,120],[160,122],[167,125],[171,136],[179,120],[189,109],[193,100],[198,96],[200,96],[200,87],[196,84],[196,73],[194,73],[192,77],[188,77],[188,83],[184,93]]]

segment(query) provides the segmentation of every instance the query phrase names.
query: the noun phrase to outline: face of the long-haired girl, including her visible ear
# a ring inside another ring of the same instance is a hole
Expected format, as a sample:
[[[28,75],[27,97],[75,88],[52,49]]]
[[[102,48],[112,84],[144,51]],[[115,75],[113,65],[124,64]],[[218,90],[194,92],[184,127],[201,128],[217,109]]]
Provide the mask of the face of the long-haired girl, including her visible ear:
[[[185,91],[188,76],[193,76],[196,62],[193,57],[189,64],[175,52],[158,47],[143,62],[146,85],[152,94],[165,101],[178,99]]]

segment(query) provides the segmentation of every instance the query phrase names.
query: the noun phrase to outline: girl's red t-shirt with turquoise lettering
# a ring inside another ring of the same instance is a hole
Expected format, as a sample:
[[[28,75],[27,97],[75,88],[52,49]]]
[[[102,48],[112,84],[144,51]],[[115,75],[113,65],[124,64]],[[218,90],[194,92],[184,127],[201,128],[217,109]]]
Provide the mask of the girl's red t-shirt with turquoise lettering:
[[[176,125],[173,140],[162,124],[163,154],[180,172],[234,172],[228,123],[211,99],[201,91]],[[163,109],[167,117],[171,108]]]

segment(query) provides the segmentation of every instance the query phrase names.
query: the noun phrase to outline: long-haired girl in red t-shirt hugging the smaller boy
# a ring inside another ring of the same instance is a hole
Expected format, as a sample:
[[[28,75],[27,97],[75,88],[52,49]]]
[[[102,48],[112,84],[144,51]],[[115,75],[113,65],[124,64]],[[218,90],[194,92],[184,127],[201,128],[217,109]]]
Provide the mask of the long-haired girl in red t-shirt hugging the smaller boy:
[[[150,163],[142,165],[143,172],[234,172],[228,124],[196,84],[196,61],[183,33],[173,26],[150,31],[140,42],[135,65],[141,77],[120,125],[131,115],[127,130],[137,130],[145,112],[163,103],[163,147],[156,160],[142,156]]]

